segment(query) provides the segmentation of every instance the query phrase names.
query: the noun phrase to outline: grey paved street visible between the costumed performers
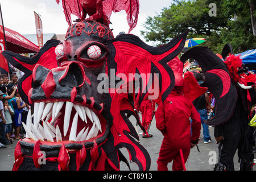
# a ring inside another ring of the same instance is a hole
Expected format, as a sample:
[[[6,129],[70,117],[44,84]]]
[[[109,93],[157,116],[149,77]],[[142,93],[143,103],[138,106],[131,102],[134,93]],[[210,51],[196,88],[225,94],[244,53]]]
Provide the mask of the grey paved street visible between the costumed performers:
[[[134,122],[134,121],[132,121]],[[135,122],[134,122],[135,125]],[[139,127],[138,127],[139,128]],[[214,154],[216,155],[216,159],[218,160],[218,145],[213,137],[214,127],[209,127],[210,135],[212,137],[212,142],[208,144],[204,144],[203,135],[200,135],[199,140],[199,151],[194,147],[191,150],[188,161],[185,164],[185,168],[187,171],[213,171],[214,164],[209,164],[209,159],[213,159]],[[141,129],[138,129],[138,132],[141,133]],[[150,133],[153,135],[152,138],[141,138],[141,144],[144,148],[147,149],[148,153],[151,157],[151,167],[150,171],[157,170],[156,160],[158,159],[159,149],[162,144],[163,135],[160,133],[155,126],[155,117],[151,123]],[[10,171],[14,162],[14,149],[18,140],[15,140],[15,143],[7,145],[7,148],[0,148],[0,171]],[[126,159],[129,160],[129,154],[125,148],[122,148],[121,151],[126,156]],[[211,162],[212,160],[210,160]],[[235,169],[239,169],[238,156],[237,154],[234,157],[234,165]],[[135,163],[130,163],[130,167],[133,171],[138,170],[138,166]],[[168,164],[169,170],[171,170],[171,163]],[[121,170],[129,170],[125,163],[121,163]],[[253,171],[256,171],[255,167]]]

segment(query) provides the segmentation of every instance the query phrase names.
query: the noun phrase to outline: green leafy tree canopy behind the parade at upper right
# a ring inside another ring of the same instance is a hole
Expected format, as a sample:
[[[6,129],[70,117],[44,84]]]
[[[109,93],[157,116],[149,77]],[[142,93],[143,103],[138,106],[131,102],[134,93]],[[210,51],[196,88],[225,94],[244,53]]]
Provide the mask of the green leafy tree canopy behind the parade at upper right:
[[[209,16],[210,3],[216,4],[217,16]],[[232,44],[234,53],[256,48],[248,0],[176,0],[160,14],[148,16],[143,26],[146,41],[158,42],[158,46],[189,30],[188,38],[205,38],[200,46],[216,53],[226,43]]]

